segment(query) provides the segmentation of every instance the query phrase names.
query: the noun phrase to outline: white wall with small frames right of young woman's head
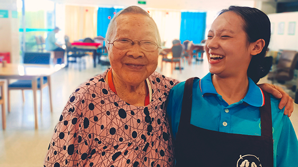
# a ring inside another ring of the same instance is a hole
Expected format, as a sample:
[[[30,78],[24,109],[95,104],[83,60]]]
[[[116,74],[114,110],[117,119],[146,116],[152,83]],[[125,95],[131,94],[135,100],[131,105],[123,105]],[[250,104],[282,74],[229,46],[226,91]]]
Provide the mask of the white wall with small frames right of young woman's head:
[[[298,12],[268,14],[273,31],[269,44],[270,51],[296,50],[298,51]],[[284,33],[278,34],[279,23],[284,22]],[[296,22],[295,35],[289,35],[289,23]]]

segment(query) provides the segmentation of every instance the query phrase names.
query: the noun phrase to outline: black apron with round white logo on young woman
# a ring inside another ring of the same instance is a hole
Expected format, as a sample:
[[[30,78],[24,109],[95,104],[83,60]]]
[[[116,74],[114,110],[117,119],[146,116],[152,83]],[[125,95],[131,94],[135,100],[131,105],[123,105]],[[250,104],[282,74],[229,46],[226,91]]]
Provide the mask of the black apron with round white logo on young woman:
[[[266,92],[265,105],[260,107],[261,136],[253,136],[207,130],[190,124],[192,87],[193,78],[190,78],[184,87],[174,143],[176,167],[273,167],[271,103]]]

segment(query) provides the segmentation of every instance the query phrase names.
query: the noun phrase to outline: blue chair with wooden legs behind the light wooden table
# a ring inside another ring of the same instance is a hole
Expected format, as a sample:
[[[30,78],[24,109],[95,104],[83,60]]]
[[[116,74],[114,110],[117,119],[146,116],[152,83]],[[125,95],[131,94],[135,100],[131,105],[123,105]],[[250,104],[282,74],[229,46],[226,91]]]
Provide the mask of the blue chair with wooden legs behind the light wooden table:
[[[24,54],[24,63],[26,64],[50,64],[51,53],[25,53]],[[52,112],[52,97],[51,97],[51,86],[50,86],[50,76],[44,76],[37,79],[37,90],[40,90],[40,111],[42,111],[42,90],[43,88],[49,86],[49,97],[50,97],[50,106]],[[7,108],[10,112],[10,90],[22,90],[23,102],[25,102],[24,90],[32,90],[32,81],[31,80],[17,80],[13,83],[8,82],[7,90]]]

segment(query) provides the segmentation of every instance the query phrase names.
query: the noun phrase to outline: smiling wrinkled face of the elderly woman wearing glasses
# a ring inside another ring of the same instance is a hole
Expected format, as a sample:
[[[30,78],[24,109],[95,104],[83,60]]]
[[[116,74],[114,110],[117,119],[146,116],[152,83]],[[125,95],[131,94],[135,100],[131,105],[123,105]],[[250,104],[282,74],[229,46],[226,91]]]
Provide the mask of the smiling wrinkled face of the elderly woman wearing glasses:
[[[131,40],[149,40],[157,44],[157,29],[154,22],[143,14],[125,13],[116,18],[116,35],[111,43],[120,38]],[[113,37],[113,34],[112,34]],[[148,78],[157,67],[158,50],[144,51],[135,41],[131,48],[120,50],[108,47],[113,76],[127,85],[139,85]]]

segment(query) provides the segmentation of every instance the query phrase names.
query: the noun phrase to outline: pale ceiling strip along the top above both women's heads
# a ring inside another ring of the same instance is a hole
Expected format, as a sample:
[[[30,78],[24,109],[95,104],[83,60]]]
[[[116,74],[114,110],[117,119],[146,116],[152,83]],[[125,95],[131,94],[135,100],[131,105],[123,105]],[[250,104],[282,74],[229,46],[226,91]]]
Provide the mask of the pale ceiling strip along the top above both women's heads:
[[[230,5],[256,6],[258,3],[266,2],[273,5],[276,2],[298,1],[298,0],[145,0],[146,4],[138,4],[138,0],[52,0],[57,3],[74,5],[94,5],[103,7],[120,6],[127,7],[138,5],[143,8],[162,8],[162,9],[186,9],[186,10],[205,10],[219,11]]]

